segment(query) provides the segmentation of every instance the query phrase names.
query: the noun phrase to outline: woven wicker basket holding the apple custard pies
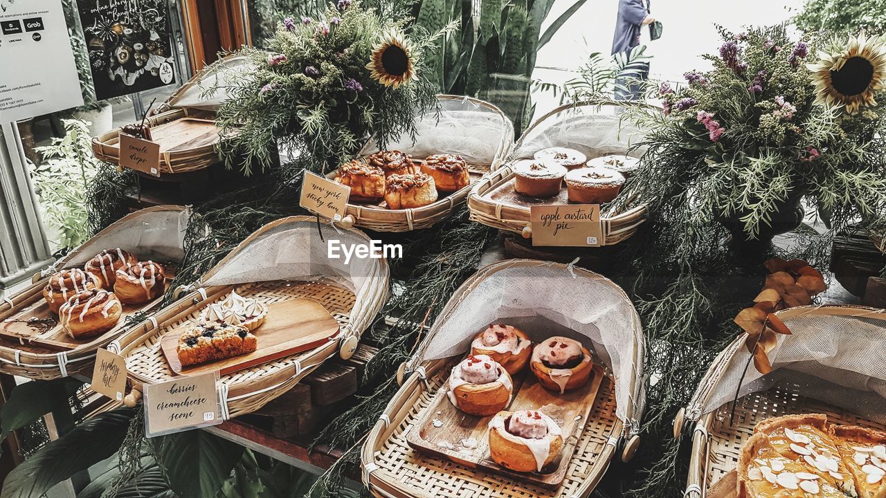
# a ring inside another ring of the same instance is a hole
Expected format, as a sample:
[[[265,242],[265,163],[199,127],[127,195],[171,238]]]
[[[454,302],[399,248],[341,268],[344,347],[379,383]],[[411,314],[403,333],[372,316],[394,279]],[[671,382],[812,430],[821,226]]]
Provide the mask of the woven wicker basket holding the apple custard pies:
[[[557,107],[550,113],[542,116],[538,121],[532,123],[532,126],[526,129],[523,136],[517,141],[514,152],[508,157],[507,162],[532,158],[532,154],[536,152],[532,144],[536,143],[539,136],[544,134],[546,127],[562,124],[562,128],[569,128],[569,122],[575,118],[587,117],[590,114],[602,113],[602,111],[613,112],[612,105],[599,105],[593,102],[583,102],[579,104],[563,105]],[[558,137],[551,137],[546,146],[548,147],[579,147],[579,144],[573,142],[558,141]],[[624,153],[625,151],[616,151],[613,149],[603,149],[606,153]],[[598,155],[603,155],[598,154]],[[632,152],[633,154],[633,152]],[[493,227],[498,230],[506,230],[522,234],[525,238],[532,237],[530,229],[531,217],[530,206],[516,204],[502,204],[491,198],[490,194],[507,183],[511,183],[514,179],[514,173],[505,164],[501,169],[495,170],[484,176],[470,191],[468,196],[468,208],[470,209],[470,219],[482,223],[486,226]],[[646,206],[633,206],[625,211],[604,211],[601,214],[602,235],[601,245],[615,245],[632,237],[639,229],[642,222],[646,221]]]

